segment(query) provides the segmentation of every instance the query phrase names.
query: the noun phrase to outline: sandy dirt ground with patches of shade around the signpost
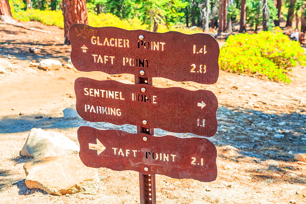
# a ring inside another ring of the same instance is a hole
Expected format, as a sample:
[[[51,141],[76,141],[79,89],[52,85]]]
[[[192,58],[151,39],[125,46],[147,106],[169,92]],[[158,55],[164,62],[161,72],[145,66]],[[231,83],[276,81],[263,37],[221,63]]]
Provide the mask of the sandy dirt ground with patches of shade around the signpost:
[[[31,158],[20,156],[20,151],[30,129],[60,132],[78,144],[78,127],[95,125],[62,118],[62,111],[76,102],[74,80],[85,76],[133,83],[134,79],[128,74],[30,67],[29,61],[47,58],[66,63],[71,46],[61,44],[64,31],[58,27],[23,24],[50,34],[0,24],[0,57],[14,68],[0,74],[0,203],[139,203],[138,173],[134,171],[98,169],[101,181],[97,195],[57,196],[26,187],[23,165]],[[29,53],[30,47],[39,48],[39,52]],[[217,112],[217,134],[209,138],[218,150],[217,179],[203,183],[156,175],[157,202],[306,203],[306,166],[293,159],[297,153],[306,153],[305,77],[306,68],[294,67],[288,85],[224,71],[213,85],[154,78],[157,87],[211,90],[219,107],[225,107]],[[43,118],[35,119],[39,115]],[[192,134],[184,137],[189,136]],[[278,165],[271,165],[271,159]]]

